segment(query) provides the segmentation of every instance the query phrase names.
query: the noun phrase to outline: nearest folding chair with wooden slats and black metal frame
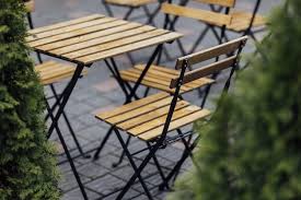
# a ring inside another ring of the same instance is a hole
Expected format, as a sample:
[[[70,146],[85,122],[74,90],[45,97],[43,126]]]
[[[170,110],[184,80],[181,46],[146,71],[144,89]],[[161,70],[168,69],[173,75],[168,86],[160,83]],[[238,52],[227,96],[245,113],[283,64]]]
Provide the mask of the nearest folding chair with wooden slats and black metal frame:
[[[142,170],[151,160],[154,161],[159,174],[162,178],[163,183],[161,187],[169,187],[170,179],[175,175],[184,161],[188,156],[193,156],[192,151],[199,140],[199,137],[193,142],[190,140],[186,140],[194,132],[182,132],[181,128],[190,125],[196,120],[206,119],[210,115],[210,110],[192,105],[190,103],[184,101],[181,96],[181,87],[187,83],[204,79],[219,71],[231,69],[229,72],[229,78],[223,87],[223,92],[228,92],[231,79],[239,66],[239,56],[246,40],[246,36],[241,37],[227,44],[178,58],[175,68],[180,70],[180,74],[178,77],[171,79],[170,82],[170,87],[175,89],[173,94],[161,92],[117,107],[113,110],[100,113],[96,115],[97,119],[108,123],[111,129],[116,133],[125,151],[125,154],[135,170],[135,174],[128,180],[121,192],[117,196],[117,200],[124,198],[125,193],[135,184],[137,178],[142,185],[148,198],[153,199],[143,177],[141,176]],[[217,57],[223,58],[219,61],[215,61],[211,64],[186,72],[188,66],[209,61]],[[177,134],[171,137],[170,132],[174,130],[177,131]],[[132,138],[138,138],[139,140],[146,142],[148,148],[135,153],[130,153],[120,131],[124,131],[126,134]],[[165,177],[161,170],[155,153],[160,149],[165,149],[167,145],[176,141],[183,142],[185,151],[178,163],[175,165],[174,169],[170,172],[167,177]],[[149,153],[138,166],[135,163],[134,155],[142,151],[149,151]]]

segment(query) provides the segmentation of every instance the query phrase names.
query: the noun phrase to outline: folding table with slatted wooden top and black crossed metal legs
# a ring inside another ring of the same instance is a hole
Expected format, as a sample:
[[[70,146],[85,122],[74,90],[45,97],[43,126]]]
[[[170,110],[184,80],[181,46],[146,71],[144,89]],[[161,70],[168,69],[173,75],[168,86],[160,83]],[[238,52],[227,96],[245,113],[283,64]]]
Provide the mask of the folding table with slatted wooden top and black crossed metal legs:
[[[26,42],[35,51],[77,64],[72,79],[67,84],[58,101],[51,107],[47,106],[49,117],[53,120],[48,129],[48,134],[51,134],[56,129],[82,196],[84,199],[88,199],[68,146],[58,127],[58,120],[81,77],[82,70],[85,67],[91,67],[96,61],[104,60],[125,93],[126,102],[130,102],[132,97],[137,97],[136,91],[162,49],[163,44],[172,43],[183,35],[149,25],[107,17],[101,14],[93,14],[35,28],[28,33],[30,36],[26,37]],[[117,64],[113,57],[151,46],[157,46],[157,48],[151,55],[140,79],[135,86],[131,87],[120,79]]]

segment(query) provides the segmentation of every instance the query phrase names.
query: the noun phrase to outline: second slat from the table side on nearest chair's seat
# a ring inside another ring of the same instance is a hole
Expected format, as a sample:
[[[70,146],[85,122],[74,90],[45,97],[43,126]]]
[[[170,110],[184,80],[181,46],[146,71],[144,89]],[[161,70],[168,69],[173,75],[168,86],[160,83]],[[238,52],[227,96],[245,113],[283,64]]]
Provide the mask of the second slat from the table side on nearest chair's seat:
[[[150,113],[153,109],[158,109],[160,107],[164,107],[166,105],[170,105],[172,103],[173,97],[166,97],[160,101],[157,101],[154,103],[148,104],[146,106],[139,107],[137,109],[132,109],[130,111],[124,113],[123,115],[118,115],[112,118],[105,119],[111,125],[116,125],[126,120],[129,120],[131,118],[141,116],[143,114]]]

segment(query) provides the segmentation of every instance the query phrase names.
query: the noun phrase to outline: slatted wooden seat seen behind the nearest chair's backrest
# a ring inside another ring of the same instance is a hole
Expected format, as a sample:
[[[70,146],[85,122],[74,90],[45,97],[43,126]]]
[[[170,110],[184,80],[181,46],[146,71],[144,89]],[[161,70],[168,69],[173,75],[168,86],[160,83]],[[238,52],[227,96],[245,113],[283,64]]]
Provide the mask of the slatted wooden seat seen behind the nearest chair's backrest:
[[[138,64],[134,68],[120,71],[120,77],[123,80],[136,83],[144,69],[144,64]],[[170,83],[172,79],[176,79],[180,75],[180,71],[151,66],[146,77],[143,78],[141,84],[148,87],[158,89],[167,93],[174,93],[174,89],[170,89]],[[181,87],[181,93],[186,93],[195,89],[212,84],[215,81],[208,78],[201,78],[196,81],[184,84]]]

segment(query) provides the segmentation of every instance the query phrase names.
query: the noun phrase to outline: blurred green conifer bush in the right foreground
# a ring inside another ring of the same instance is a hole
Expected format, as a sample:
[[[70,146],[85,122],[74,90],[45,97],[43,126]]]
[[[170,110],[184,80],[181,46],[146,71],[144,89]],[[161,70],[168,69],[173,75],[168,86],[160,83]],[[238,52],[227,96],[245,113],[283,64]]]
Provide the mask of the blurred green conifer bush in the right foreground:
[[[199,127],[198,167],[170,199],[301,199],[301,1],[270,19],[261,56]]]

